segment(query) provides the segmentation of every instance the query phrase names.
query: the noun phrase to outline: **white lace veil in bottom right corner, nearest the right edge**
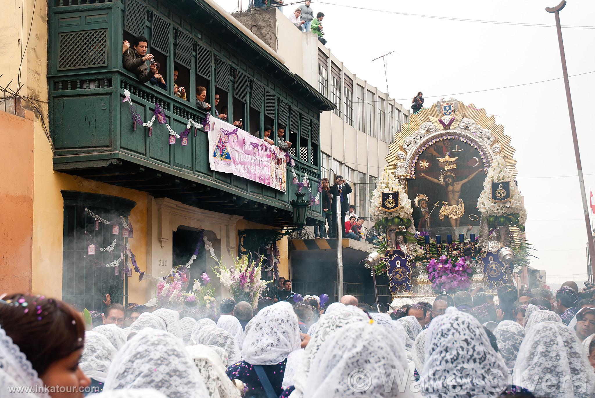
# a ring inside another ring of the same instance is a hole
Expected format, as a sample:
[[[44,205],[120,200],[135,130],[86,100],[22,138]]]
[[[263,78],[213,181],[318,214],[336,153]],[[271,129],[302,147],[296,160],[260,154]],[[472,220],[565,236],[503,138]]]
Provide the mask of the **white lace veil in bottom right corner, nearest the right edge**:
[[[552,398],[591,398],[595,391],[595,373],[583,346],[561,322],[540,322],[527,331],[512,382],[535,396]]]

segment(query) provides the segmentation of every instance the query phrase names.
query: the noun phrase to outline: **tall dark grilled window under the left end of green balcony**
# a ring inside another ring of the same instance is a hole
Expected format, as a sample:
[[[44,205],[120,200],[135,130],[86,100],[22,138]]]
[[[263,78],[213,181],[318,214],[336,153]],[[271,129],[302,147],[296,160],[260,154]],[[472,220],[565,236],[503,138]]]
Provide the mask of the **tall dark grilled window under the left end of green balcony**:
[[[83,306],[89,311],[102,311],[102,300],[105,300],[105,294],[109,294],[112,303],[125,305],[128,299],[126,275],[130,275],[124,268],[126,263],[122,261],[116,267],[104,265],[120,258],[119,245],[128,239],[122,236],[120,216],[128,217],[136,203],[116,196],[75,191],[62,191],[62,197],[62,300]],[[112,225],[102,222],[96,225],[95,219],[86,209],[103,220],[118,224],[118,234],[112,234]],[[99,250],[111,245],[114,239],[116,245],[111,252]],[[95,245],[95,254],[89,255],[89,245],[92,244]]]

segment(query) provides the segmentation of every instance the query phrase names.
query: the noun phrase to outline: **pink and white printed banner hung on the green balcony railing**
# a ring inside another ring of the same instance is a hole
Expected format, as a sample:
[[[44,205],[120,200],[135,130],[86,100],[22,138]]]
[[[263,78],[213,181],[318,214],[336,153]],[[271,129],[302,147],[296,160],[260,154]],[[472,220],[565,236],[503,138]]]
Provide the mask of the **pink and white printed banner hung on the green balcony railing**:
[[[211,170],[234,174],[286,192],[285,152],[233,124],[207,114]]]

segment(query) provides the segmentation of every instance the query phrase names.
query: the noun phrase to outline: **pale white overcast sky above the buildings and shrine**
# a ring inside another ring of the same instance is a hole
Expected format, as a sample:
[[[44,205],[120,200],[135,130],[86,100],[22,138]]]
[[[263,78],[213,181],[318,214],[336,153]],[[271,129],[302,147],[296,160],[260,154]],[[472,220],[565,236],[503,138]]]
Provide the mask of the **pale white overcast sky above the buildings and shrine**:
[[[292,0],[288,0],[292,1]],[[242,0],[243,10],[248,1]],[[334,3],[341,4],[329,5]],[[218,0],[236,11],[237,0]],[[325,14],[327,46],[352,73],[386,90],[381,61],[387,57],[389,92],[410,104],[418,91],[425,104],[441,97],[474,90],[531,83],[562,77],[554,27],[511,26],[423,18],[376,10],[490,21],[555,24],[558,0],[313,1],[314,13]],[[295,5],[286,5],[289,15]],[[563,25],[595,26],[595,2],[571,0],[560,12]],[[562,29],[569,74],[595,71],[595,29]],[[283,43],[279,43],[283,45]],[[595,134],[591,130],[595,73],[570,78],[587,203],[595,191]],[[437,96],[436,98],[431,98]],[[565,280],[582,283],[586,275],[587,242],[577,167],[563,80],[454,96],[466,104],[496,114],[497,123],[512,137],[518,161],[518,183],[528,211],[527,240],[539,259],[533,267],[547,271],[549,284]],[[409,105],[407,105],[409,106]]]

